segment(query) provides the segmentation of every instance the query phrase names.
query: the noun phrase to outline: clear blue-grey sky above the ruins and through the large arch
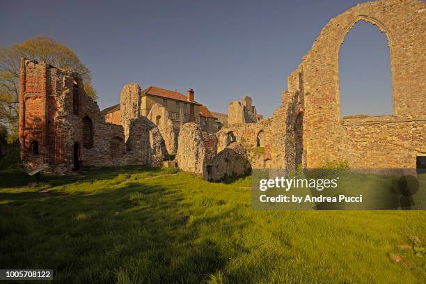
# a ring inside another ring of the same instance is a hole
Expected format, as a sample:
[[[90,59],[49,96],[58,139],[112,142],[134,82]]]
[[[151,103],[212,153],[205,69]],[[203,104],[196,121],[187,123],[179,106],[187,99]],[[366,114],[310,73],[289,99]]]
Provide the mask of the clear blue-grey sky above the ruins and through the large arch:
[[[4,1],[0,46],[40,35],[65,43],[91,70],[101,109],[136,82],[194,88],[198,102],[225,113],[250,95],[270,116],[322,27],[361,2]],[[342,113],[391,113],[386,36],[358,23],[340,58]]]

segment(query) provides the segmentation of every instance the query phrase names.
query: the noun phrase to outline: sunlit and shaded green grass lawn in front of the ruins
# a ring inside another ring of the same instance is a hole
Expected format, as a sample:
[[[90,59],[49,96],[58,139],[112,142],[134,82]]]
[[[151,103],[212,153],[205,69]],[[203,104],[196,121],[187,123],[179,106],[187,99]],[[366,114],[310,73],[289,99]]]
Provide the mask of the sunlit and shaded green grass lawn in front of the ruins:
[[[15,157],[16,158],[16,157]],[[425,283],[424,211],[252,210],[250,177],[0,163],[0,269],[56,283]],[[396,260],[393,261],[393,260]]]

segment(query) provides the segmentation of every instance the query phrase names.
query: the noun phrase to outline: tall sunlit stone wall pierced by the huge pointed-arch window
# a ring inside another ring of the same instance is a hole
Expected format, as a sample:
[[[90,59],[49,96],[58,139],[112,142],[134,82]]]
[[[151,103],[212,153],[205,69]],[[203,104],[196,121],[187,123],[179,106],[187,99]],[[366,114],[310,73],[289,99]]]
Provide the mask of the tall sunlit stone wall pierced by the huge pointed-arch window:
[[[388,38],[392,116],[340,118],[339,50],[358,21],[374,24]],[[348,161],[352,168],[416,168],[416,156],[426,154],[425,22],[423,1],[388,0],[358,4],[324,26],[283,94],[287,107],[301,103],[285,120],[291,125],[303,117],[301,137],[294,130],[289,135],[293,144],[303,143],[304,166]]]

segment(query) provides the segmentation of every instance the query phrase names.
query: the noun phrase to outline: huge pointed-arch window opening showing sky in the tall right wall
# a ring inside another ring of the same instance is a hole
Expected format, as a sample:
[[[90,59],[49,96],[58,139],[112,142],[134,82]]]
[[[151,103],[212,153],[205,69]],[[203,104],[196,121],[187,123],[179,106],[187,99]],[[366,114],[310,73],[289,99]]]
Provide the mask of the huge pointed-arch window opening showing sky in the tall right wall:
[[[390,52],[385,33],[364,21],[347,33],[339,54],[340,117],[392,115]]]

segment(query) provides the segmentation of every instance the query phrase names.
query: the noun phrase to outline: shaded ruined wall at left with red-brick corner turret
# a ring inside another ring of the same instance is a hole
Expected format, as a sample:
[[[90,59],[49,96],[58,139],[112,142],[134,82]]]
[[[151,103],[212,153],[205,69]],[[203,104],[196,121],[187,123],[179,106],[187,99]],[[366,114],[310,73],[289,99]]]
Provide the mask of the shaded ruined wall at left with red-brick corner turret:
[[[68,173],[79,166],[161,165],[166,157],[157,127],[146,118],[105,123],[77,72],[21,60],[19,140],[26,168]]]

